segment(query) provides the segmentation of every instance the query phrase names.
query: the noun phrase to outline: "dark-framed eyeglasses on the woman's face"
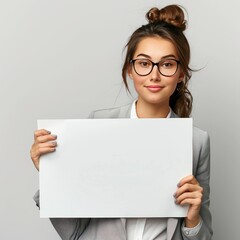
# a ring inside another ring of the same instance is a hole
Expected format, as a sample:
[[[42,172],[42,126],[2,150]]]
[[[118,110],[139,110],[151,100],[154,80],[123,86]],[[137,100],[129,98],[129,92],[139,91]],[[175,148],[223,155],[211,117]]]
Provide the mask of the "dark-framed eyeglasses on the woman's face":
[[[130,63],[133,64],[133,68],[139,76],[149,75],[154,66],[157,66],[160,74],[165,77],[171,77],[177,72],[180,61],[176,59],[164,59],[160,62],[154,63],[149,59],[138,58],[130,60]]]

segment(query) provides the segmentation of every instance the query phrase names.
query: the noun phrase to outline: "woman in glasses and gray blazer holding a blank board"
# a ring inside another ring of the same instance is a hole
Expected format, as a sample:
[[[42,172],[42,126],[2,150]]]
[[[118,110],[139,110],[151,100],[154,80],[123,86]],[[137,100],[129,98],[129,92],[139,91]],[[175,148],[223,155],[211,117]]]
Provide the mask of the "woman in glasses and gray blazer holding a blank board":
[[[192,96],[187,89],[191,77],[190,48],[183,31],[184,13],[179,6],[153,8],[148,24],[137,29],[127,44],[122,76],[129,77],[138,93],[127,106],[92,112],[91,118],[189,117]],[[56,136],[47,130],[35,132],[31,158],[36,168],[42,154],[55,151]],[[193,175],[178,183],[176,204],[189,204],[182,219],[51,219],[62,239],[158,239],[207,240],[212,238],[209,212],[209,137],[193,129]],[[38,193],[35,201],[39,205]]]

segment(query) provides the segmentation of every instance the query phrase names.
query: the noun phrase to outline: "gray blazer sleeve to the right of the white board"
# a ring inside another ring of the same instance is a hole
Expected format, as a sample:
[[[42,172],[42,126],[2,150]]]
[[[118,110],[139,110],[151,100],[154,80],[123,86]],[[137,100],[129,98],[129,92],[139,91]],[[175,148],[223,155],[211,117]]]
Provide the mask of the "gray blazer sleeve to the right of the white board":
[[[202,206],[200,215],[202,218],[201,228],[195,236],[187,236],[184,232],[184,240],[211,240],[212,217],[209,210],[210,194],[210,140],[207,132],[195,130],[193,136],[193,174],[203,188]]]

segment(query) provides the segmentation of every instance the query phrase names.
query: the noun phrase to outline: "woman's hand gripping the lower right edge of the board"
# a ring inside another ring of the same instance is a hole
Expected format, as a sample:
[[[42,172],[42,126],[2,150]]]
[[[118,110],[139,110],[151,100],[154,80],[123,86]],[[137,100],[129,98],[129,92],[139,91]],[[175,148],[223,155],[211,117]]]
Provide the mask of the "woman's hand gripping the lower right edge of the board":
[[[178,190],[174,194],[179,205],[189,204],[185,226],[192,228],[200,222],[200,208],[202,204],[203,188],[197,179],[190,175],[178,183]]]

